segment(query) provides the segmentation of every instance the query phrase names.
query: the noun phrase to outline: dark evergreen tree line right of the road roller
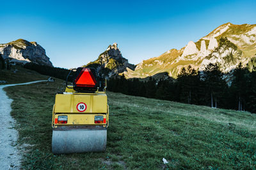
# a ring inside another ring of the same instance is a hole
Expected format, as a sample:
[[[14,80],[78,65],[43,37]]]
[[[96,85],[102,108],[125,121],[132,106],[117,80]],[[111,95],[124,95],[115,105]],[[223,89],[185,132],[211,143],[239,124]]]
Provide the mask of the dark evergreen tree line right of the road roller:
[[[124,76],[120,76],[108,80],[108,90],[132,96],[256,113],[256,72],[248,71],[241,64],[229,75],[221,73],[218,64],[210,63],[202,72],[195,71],[191,66],[183,67],[176,80],[126,80]]]

